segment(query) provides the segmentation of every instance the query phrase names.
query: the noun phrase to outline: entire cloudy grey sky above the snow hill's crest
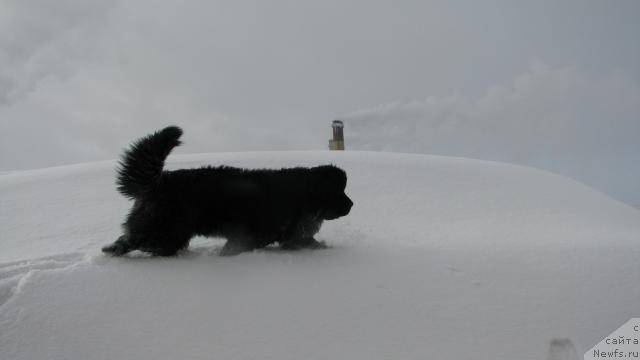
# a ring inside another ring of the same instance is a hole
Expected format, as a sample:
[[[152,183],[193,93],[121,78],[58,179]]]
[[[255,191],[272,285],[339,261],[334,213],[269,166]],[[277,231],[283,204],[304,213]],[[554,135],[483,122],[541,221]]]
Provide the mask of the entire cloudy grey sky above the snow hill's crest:
[[[330,121],[365,108],[351,118],[385,132],[347,128],[362,148],[520,162],[625,188],[637,179],[623,164],[637,154],[638,10],[5,0],[0,171],[112,159],[168,124],[185,128],[183,153],[325,149]],[[543,62],[520,74],[532,59]]]

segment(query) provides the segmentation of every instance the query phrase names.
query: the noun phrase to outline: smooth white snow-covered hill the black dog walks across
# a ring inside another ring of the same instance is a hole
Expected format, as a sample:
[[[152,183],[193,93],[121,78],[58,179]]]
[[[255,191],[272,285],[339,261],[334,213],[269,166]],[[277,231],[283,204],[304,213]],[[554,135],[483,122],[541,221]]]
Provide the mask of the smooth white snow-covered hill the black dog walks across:
[[[331,248],[231,258],[202,238],[103,256],[130,205],[114,162],[1,175],[0,359],[575,358],[640,314],[640,211],[568,178],[390,153],[169,159],[325,163],[355,202],[323,226]]]

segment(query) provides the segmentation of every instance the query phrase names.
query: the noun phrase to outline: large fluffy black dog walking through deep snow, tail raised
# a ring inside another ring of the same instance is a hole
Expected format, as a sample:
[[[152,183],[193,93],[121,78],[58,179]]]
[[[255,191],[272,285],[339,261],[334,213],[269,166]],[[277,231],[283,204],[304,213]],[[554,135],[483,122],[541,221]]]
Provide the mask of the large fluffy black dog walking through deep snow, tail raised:
[[[118,190],[135,200],[124,234],[102,249],[112,255],[142,250],[171,256],[195,235],[221,236],[221,255],[278,243],[282,248],[320,248],[313,236],[323,220],[349,213],[346,173],[333,165],[281,170],[227,166],[163,171],[180,144],[171,126],[137,140],[118,169]]]

